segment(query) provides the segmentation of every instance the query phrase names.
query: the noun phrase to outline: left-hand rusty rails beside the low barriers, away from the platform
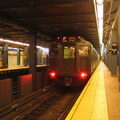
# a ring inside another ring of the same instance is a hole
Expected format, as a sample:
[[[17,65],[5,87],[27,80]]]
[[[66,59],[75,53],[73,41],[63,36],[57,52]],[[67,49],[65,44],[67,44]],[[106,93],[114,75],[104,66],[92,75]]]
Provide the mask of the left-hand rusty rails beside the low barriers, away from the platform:
[[[33,92],[30,95],[16,99],[12,103],[0,108],[0,120],[13,120],[25,109],[31,108],[38,101],[44,100],[50,92],[56,91],[54,85],[46,86],[44,89]]]

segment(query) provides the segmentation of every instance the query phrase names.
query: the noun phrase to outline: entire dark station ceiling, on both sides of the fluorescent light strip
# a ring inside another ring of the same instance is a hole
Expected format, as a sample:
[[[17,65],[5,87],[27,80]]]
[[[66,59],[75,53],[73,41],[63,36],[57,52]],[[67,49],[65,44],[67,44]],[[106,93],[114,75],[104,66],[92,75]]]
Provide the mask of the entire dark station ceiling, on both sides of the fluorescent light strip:
[[[114,21],[117,0],[104,3],[106,43],[111,30],[107,26]],[[35,33],[40,45],[58,36],[83,36],[100,52],[95,14],[94,0],[1,0],[0,37],[29,43],[29,34]]]

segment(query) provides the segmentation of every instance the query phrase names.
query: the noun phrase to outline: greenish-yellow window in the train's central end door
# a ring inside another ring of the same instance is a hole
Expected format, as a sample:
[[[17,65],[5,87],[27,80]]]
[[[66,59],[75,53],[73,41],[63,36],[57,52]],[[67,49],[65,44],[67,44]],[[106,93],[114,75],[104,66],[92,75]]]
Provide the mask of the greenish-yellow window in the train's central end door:
[[[74,59],[74,58],[75,58],[75,47],[64,46],[64,59]]]

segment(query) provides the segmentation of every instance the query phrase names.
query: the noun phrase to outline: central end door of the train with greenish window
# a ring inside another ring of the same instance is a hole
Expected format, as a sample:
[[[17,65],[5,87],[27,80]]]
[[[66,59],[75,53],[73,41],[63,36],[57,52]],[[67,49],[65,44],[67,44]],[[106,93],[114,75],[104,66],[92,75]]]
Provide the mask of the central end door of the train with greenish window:
[[[62,74],[73,74],[76,70],[75,65],[75,45],[64,45],[63,46],[63,55],[61,61],[61,73]]]

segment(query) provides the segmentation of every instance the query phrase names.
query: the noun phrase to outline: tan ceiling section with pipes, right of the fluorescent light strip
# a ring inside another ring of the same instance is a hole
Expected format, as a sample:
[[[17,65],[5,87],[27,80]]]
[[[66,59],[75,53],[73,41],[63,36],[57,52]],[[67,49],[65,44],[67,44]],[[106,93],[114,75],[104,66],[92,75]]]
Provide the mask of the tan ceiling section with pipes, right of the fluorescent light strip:
[[[112,30],[118,29],[118,0],[104,0],[103,43],[106,44]]]

